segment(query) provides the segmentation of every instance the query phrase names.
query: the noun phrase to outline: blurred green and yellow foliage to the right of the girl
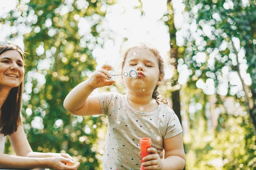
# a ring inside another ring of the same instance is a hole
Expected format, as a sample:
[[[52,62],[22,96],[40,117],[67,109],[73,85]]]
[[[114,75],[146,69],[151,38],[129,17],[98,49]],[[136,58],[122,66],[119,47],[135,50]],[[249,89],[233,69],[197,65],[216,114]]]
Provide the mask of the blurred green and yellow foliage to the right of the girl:
[[[183,96],[180,100],[186,101],[182,110],[189,120],[189,132],[184,135],[186,169],[256,169],[256,2],[185,0],[184,3],[184,13],[189,15],[188,23],[196,24],[195,32],[190,29],[189,35],[184,36],[185,54],[181,57],[192,71],[186,87],[183,87],[183,94],[189,96]],[[241,55],[243,52],[244,56]],[[198,60],[198,53],[206,55],[204,62]],[[245,85],[244,78],[241,77],[242,63],[247,65],[246,71],[252,79],[251,85]],[[227,94],[225,97],[220,95],[220,85],[226,74],[224,67],[228,68],[229,73],[239,75],[243,95],[239,92],[233,93],[232,88],[236,88],[236,83],[232,82],[229,74]],[[215,93],[210,96],[204,94],[204,90],[196,86],[199,79],[203,82],[213,79]],[[211,103],[212,95],[216,101],[215,105],[210,104],[210,109],[213,109],[212,113],[217,109],[220,111],[216,127],[207,125],[212,118],[207,117],[205,110],[207,104]],[[233,98],[234,105],[239,105],[234,112],[228,111],[225,105],[229,98]],[[195,113],[189,113],[188,105],[192,102],[200,103],[202,108]]]

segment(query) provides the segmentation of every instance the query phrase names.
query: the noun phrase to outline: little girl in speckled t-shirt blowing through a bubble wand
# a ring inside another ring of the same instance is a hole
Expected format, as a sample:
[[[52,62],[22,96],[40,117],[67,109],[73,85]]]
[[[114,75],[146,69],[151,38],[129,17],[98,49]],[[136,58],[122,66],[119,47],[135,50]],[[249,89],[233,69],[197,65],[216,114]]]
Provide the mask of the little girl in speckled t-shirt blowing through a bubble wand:
[[[124,54],[122,72],[131,69],[138,72],[137,78],[122,77],[126,95],[108,92],[89,96],[94,89],[114,83],[108,80],[111,78],[108,70],[113,68],[105,64],[64,100],[64,108],[75,115],[108,116],[104,170],[139,170],[139,143],[143,137],[151,138],[150,155],[144,157],[142,164],[145,170],[182,170],[185,166],[180,122],[166,100],[157,95],[163,68],[159,51],[140,44]]]

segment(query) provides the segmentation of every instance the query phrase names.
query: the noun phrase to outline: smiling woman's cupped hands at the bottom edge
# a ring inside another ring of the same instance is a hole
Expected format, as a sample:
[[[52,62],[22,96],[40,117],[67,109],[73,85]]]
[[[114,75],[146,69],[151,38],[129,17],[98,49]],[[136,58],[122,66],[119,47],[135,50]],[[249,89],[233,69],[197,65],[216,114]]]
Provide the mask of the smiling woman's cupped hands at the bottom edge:
[[[56,155],[47,159],[49,168],[53,170],[77,170],[80,165],[79,162],[75,163],[73,160],[67,159],[64,156]]]

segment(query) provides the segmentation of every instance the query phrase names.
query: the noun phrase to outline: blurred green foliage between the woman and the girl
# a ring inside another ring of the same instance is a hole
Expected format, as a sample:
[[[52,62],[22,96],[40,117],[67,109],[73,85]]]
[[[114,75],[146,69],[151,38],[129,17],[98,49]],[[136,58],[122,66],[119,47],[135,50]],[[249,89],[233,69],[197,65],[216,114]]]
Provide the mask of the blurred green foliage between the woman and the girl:
[[[102,18],[106,7],[115,1],[24,2],[20,1],[0,23],[22,28],[24,33],[22,114],[29,143],[34,151],[69,153],[80,161],[79,170],[101,169],[103,152],[97,147],[97,139],[105,117],[73,116],[64,109],[63,101],[95,69],[92,50],[95,45],[102,45],[97,41],[104,31]],[[84,22],[79,23],[81,18]],[[10,38],[17,36],[20,35],[14,33]],[[108,39],[108,34],[102,37]],[[8,141],[6,153],[10,152],[9,146]]]

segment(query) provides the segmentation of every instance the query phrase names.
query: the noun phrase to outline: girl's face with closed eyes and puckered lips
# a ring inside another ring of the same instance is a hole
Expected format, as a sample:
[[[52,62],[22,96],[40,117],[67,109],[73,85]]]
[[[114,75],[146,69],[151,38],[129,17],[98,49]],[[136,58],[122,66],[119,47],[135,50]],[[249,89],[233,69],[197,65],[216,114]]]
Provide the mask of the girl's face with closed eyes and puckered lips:
[[[129,73],[131,69],[135,69],[138,76],[137,78],[123,77],[128,90],[152,94],[156,85],[160,85],[162,76],[159,76],[157,57],[150,50],[131,49],[125,60],[123,72]]]

